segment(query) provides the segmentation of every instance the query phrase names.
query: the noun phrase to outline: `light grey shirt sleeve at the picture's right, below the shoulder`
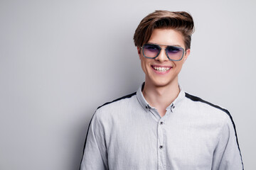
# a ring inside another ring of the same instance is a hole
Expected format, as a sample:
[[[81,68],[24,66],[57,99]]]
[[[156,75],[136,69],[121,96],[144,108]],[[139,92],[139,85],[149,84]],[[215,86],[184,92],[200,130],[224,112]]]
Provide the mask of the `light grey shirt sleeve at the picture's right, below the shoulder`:
[[[213,170],[243,170],[235,123],[230,115],[220,131],[220,138],[213,154]]]

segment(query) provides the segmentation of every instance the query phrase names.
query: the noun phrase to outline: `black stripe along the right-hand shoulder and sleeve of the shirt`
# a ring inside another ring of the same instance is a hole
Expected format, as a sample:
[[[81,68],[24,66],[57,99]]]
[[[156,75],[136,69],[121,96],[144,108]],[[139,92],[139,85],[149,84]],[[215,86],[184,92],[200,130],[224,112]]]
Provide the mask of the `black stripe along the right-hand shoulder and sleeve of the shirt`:
[[[185,96],[186,96],[187,98],[191,99],[191,101],[200,101],[200,102],[206,103],[206,104],[208,104],[208,105],[210,105],[210,106],[213,106],[213,107],[215,107],[215,108],[218,108],[218,109],[220,109],[221,111],[224,111],[225,113],[227,113],[228,116],[230,117],[230,120],[231,120],[232,124],[233,124],[233,128],[234,128],[234,130],[235,130],[236,142],[238,143],[238,135],[237,135],[237,132],[236,132],[236,129],[235,129],[235,123],[234,123],[233,118],[232,118],[232,116],[230,115],[230,113],[229,113],[228,110],[226,110],[225,108],[221,108],[220,106],[214,105],[213,103],[210,103],[210,102],[208,102],[208,101],[204,101],[202,98],[198,98],[198,97],[196,97],[196,96],[192,96],[191,94],[185,93]],[[238,143],[238,149],[239,149],[240,157],[241,157],[241,161],[242,161],[242,154],[241,154],[241,151],[240,151],[239,143]],[[242,163],[242,169],[244,169],[243,163]]]

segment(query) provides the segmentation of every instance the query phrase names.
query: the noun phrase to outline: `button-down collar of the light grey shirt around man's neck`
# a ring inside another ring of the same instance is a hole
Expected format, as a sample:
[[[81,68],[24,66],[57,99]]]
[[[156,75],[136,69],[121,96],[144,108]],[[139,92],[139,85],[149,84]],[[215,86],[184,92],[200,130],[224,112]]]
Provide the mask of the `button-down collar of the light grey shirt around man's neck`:
[[[139,103],[141,104],[142,108],[144,108],[145,111],[149,111],[150,108],[154,108],[154,107],[149,105],[149,103],[146,101],[146,99],[144,98],[144,96],[142,94],[142,89],[144,88],[144,84],[145,84],[145,82],[141,86],[139,86],[139,89],[137,90],[137,99],[138,99]],[[168,106],[166,109],[174,109],[175,106],[180,101],[182,101],[182,99],[185,97],[185,91],[183,91],[183,89],[181,88],[180,85],[178,85],[178,86],[179,86],[180,92],[179,92],[177,98],[175,98],[174,102],[171,103],[171,105]]]

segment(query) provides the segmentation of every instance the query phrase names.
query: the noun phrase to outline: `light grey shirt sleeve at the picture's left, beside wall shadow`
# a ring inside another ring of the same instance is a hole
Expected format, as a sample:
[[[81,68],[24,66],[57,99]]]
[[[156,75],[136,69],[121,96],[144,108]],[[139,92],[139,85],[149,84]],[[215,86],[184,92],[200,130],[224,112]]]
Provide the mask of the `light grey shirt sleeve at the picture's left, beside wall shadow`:
[[[92,116],[87,136],[85,138],[85,150],[80,165],[80,170],[107,170],[107,149],[105,145],[105,133],[99,120],[97,111]]]

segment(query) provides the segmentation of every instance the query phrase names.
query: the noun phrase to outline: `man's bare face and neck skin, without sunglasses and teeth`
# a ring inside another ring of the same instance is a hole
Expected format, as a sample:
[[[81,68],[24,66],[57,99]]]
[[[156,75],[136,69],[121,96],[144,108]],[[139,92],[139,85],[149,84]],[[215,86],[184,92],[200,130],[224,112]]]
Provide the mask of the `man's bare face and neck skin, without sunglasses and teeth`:
[[[185,49],[183,35],[173,29],[154,29],[149,43],[158,44],[162,48],[165,48],[166,45],[174,45]],[[190,49],[186,50],[186,54],[184,54],[181,61],[175,62],[168,59],[165,50],[161,50],[159,56],[155,59],[144,57],[141,47],[137,47],[137,51],[145,73],[145,86],[142,91],[144,98],[159,111],[161,116],[164,116],[166,108],[174,101],[180,91],[178,88],[178,74],[190,54]],[[167,72],[158,72],[152,66],[171,67],[171,69]]]

